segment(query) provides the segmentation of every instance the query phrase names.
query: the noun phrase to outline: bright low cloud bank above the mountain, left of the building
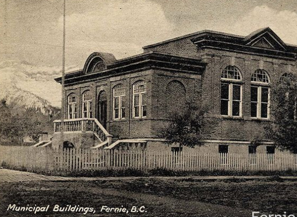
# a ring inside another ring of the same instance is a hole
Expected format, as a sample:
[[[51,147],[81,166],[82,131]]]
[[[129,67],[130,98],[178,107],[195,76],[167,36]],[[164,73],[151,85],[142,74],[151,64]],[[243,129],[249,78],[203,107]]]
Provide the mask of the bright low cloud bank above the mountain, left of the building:
[[[68,67],[66,71],[78,68]],[[54,66],[33,66],[17,60],[0,62],[0,98],[7,92],[13,94],[15,87],[34,93],[53,106],[61,106],[61,84],[54,78],[61,76],[61,68]]]

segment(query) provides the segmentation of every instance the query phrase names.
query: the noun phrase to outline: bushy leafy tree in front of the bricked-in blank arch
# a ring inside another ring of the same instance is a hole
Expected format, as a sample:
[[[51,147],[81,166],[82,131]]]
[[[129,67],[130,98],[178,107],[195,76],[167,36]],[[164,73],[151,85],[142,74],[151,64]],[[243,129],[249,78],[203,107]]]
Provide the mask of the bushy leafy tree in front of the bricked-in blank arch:
[[[186,103],[184,109],[173,111],[168,117],[168,125],[159,133],[168,145],[178,144],[180,147],[202,145],[203,131],[209,123],[205,111],[194,103]]]

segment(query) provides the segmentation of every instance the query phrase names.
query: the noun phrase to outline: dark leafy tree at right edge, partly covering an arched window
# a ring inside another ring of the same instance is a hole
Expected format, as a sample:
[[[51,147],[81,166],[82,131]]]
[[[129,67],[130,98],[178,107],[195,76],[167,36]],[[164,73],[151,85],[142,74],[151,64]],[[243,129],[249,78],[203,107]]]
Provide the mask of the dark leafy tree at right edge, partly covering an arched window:
[[[282,78],[271,88],[271,122],[265,127],[266,137],[281,150],[297,153],[297,80]]]

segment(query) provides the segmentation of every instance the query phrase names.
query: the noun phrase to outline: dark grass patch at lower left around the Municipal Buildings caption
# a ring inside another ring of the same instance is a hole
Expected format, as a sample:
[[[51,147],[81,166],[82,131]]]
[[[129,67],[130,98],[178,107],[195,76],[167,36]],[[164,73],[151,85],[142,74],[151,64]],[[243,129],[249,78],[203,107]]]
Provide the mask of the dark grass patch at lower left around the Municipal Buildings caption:
[[[8,183],[0,186],[0,216],[17,216],[17,212],[11,210],[7,211],[9,204],[16,204],[20,206],[40,206],[50,205],[47,213],[20,213],[23,216],[95,216],[90,213],[83,215],[82,213],[69,212],[53,212],[53,207],[57,204],[60,207],[67,207],[67,205],[79,205],[80,207],[93,207],[97,211],[102,205],[112,205],[114,207],[127,206],[139,204],[135,199],[126,197],[114,197],[104,193],[90,192],[87,189],[88,184],[83,182],[26,182],[26,183]],[[111,213],[108,216],[124,216],[123,213]]]

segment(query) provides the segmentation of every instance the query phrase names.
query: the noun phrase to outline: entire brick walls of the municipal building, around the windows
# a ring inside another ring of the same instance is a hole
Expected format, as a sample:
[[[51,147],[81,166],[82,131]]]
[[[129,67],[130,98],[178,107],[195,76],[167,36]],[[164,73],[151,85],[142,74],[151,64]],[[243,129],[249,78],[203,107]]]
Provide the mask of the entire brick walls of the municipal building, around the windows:
[[[98,79],[98,82],[69,86],[66,95],[70,92],[75,92],[78,95],[79,114],[81,114],[81,94],[84,90],[90,89],[93,92],[94,105],[97,104],[97,96],[100,90],[105,90],[108,95],[107,130],[111,134],[115,134],[119,138],[156,137],[156,132],[166,124],[165,119],[168,116],[166,86],[171,81],[178,81],[185,87],[186,100],[194,100],[203,104],[213,116],[219,117],[219,121],[208,131],[209,135],[207,137],[209,139],[244,141],[251,141],[255,137],[264,139],[263,125],[267,122],[255,121],[250,118],[250,75],[262,63],[263,69],[268,72],[271,82],[277,81],[284,72],[288,72],[288,64],[292,65],[290,67],[291,72],[297,74],[294,62],[235,52],[211,49],[198,50],[189,38],[148,48],[145,52],[152,50],[188,58],[201,58],[203,62],[208,64],[202,76],[172,71],[147,70],[113,77],[105,81],[99,81]],[[239,119],[220,116],[220,75],[226,66],[233,64],[240,69],[243,79],[243,117]],[[132,118],[132,85],[141,79],[147,82],[148,114],[146,118],[139,120]],[[125,120],[113,121],[112,88],[120,83],[126,86],[126,118]],[[180,96],[177,95],[176,97],[178,101]],[[93,106],[93,114],[97,117],[97,106]]]

